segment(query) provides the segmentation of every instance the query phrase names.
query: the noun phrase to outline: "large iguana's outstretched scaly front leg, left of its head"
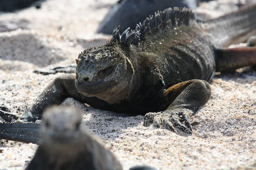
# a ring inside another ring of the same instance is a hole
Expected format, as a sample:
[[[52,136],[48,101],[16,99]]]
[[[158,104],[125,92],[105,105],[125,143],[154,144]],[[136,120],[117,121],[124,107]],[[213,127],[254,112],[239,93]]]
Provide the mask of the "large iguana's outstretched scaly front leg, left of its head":
[[[41,119],[42,113],[51,105],[59,105],[68,97],[88,105],[99,105],[98,108],[109,110],[111,106],[96,97],[87,97],[80,94],[75,86],[76,76],[65,75],[54,79],[47,88],[38,96],[32,106],[23,114],[21,119],[28,122],[35,122]]]

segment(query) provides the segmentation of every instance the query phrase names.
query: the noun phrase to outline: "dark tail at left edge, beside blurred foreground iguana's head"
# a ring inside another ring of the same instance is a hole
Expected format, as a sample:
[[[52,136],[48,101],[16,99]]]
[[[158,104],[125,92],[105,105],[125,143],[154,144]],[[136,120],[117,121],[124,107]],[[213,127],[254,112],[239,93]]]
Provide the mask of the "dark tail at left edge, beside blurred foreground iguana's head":
[[[38,144],[39,123],[0,123],[0,139]]]

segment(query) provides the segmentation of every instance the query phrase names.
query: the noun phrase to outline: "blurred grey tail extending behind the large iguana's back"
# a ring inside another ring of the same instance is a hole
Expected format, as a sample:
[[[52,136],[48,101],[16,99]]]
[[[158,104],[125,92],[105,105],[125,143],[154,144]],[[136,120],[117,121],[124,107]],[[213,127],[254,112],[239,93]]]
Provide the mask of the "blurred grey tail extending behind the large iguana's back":
[[[216,47],[245,42],[256,34],[256,4],[202,23]]]

